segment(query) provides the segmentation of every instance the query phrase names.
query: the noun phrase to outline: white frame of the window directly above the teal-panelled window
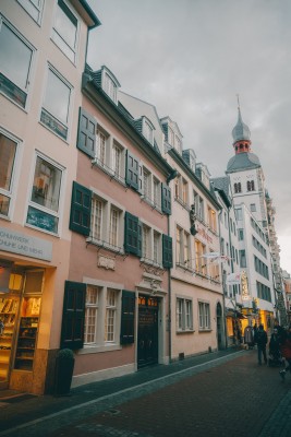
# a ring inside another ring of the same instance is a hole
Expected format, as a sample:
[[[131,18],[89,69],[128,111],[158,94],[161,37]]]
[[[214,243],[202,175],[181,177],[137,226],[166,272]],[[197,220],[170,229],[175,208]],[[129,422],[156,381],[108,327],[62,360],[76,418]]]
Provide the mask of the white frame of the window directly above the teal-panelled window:
[[[64,120],[60,120],[54,114],[51,114],[51,111],[48,108],[46,108],[46,105],[45,105],[46,93],[48,90],[49,71],[52,74],[54,74],[54,76],[58,78],[70,90],[69,102],[68,102],[68,116],[66,116],[65,122],[64,122]],[[73,86],[51,64],[48,64],[47,80],[46,80],[46,84],[45,84],[44,98],[43,98],[41,110],[40,110],[40,123],[45,128],[49,129],[57,137],[61,138],[63,141],[66,141],[66,142],[69,142],[69,140],[70,140],[70,121],[71,121],[71,111],[72,111],[72,101],[73,101]],[[46,121],[44,119],[41,119],[43,117],[46,118]],[[56,126],[56,123],[61,125],[64,128],[64,130],[66,130],[65,135],[62,135],[61,133],[56,131],[56,129],[53,129],[53,126]]]

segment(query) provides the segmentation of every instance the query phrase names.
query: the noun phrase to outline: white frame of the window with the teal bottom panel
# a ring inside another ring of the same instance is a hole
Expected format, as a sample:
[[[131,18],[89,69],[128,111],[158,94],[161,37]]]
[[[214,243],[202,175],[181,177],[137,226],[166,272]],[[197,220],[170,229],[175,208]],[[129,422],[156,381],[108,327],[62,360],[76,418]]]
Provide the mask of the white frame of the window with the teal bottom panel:
[[[32,200],[32,192],[33,192],[33,185],[34,185],[34,177],[35,177],[35,168],[36,168],[36,162],[37,162],[38,157],[40,160],[44,160],[45,162],[47,162],[48,164],[50,164],[51,166],[56,167],[58,170],[61,172],[58,211],[53,211],[53,210],[51,210],[49,208],[46,208],[46,206],[44,206],[44,205],[41,205],[39,203],[36,203],[36,202],[34,202]],[[33,228],[35,228],[37,231],[40,231],[40,232],[44,232],[44,233],[47,233],[47,234],[59,235],[59,232],[60,232],[60,228],[61,228],[60,220],[61,220],[61,209],[62,209],[61,205],[62,205],[62,199],[63,199],[64,172],[65,172],[65,168],[63,166],[61,166],[59,163],[56,163],[54,161],[52,161],[48,156],[44,155],[41,152],[36,151],[35,160],[34,160],[34,166],[33,166],[32,182],[29,185],[31,190],[29,190],[29,198],[28,198],[28,205],[27,205],[27,214],[26,214],[26,220],[25,220],[25,226],[33,227]],[[52,216],[57,221],[57,232],[52,232],[52,231],[49,231],[49,229],[33,225],[32,223],[28,223],[27,218],[28,218],[29,209],[37,210],[37,212],[44,213],[45,215]]]

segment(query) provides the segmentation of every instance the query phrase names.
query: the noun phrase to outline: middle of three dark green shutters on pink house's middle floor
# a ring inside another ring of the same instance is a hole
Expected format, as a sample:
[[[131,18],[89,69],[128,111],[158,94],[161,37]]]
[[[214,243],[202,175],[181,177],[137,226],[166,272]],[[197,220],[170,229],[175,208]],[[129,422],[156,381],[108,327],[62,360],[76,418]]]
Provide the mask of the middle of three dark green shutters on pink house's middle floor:
[[[125,212],[124,250],[141,257],[142,253],[142,229],[138,217]]]

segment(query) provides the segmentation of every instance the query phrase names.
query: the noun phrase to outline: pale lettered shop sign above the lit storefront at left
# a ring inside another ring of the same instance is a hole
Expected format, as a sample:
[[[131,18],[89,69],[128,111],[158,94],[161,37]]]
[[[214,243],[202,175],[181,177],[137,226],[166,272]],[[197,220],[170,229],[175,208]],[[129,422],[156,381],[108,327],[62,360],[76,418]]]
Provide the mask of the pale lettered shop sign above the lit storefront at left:
[[[0,227],[0,250],[51,261],[52,243]]]

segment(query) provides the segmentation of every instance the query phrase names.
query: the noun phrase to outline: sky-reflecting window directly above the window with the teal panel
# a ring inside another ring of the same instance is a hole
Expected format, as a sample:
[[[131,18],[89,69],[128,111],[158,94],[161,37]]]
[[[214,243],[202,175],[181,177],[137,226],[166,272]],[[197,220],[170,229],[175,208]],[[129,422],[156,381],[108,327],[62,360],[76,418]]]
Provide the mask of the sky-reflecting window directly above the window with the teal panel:
[[[64,140],[68,139],[71,92],[71,85],[49,68],[40,121]]]

